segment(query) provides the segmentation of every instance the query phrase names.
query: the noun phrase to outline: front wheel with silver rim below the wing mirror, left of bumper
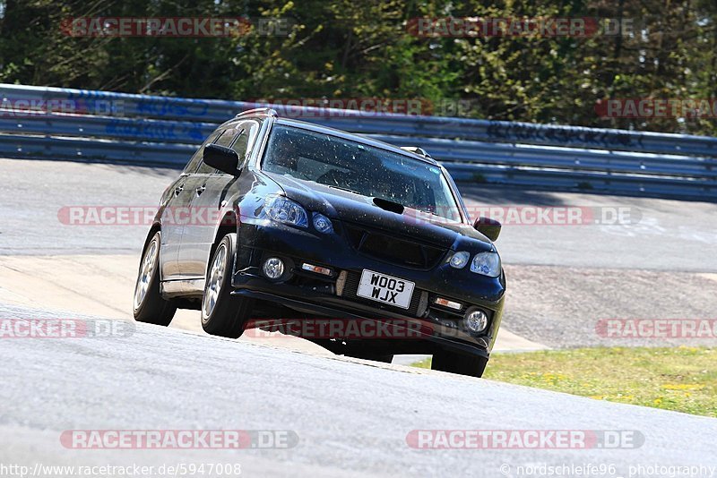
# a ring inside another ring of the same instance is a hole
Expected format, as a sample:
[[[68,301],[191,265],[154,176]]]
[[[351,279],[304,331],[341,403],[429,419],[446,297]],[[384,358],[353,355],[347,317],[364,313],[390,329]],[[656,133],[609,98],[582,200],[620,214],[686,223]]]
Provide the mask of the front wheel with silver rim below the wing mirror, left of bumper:
[[[202,298],[202,328],[212,336],[238,338],[244,333],[253,301],[232,295],[237,234],[225,235],[212,254]]]

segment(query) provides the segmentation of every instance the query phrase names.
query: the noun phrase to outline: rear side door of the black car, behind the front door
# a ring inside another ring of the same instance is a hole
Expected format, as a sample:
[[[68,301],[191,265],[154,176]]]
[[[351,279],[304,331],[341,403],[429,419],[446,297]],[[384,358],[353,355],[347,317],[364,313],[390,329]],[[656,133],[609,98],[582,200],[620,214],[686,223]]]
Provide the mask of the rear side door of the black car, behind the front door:
[[[169,186],[170,191],[167,192],[168,201],[162,214],[161,226],[160,270],[162,280],[174,280],[182,277],[178,254],[185,228],[186,212],[194,197],[193,186],[196,187],[194,183],[198,181],[194,173],[201,163],[204,146],[211,144],[218,135],[217,131],[209,135],[189,159],[177,181]]]

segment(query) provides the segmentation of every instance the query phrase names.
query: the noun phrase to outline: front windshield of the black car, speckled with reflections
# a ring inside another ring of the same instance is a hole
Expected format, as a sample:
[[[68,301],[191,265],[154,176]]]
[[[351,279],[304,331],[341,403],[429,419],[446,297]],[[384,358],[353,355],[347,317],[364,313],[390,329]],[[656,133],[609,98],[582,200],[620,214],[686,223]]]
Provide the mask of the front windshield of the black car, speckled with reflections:
[[[440,167],[358,141],[277,124],[262,169],[461,221]]]

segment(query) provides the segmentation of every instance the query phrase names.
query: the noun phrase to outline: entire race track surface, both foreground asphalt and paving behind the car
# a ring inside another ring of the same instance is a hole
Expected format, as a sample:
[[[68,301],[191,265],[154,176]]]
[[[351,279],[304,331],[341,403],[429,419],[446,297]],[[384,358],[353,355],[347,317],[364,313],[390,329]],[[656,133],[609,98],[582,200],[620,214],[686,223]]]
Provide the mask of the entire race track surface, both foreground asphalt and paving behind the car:
[[[0,463],[31,471],[38,464],[220,462],[240,464],[246,476],[545,475],[531,468],[542,465],[572,466],[566,476],[587,475],[574,467],[590,465],[614,466],[591,475],[661,476],[650,467],[717,466],[714,419],[346,359],[298,339],[209,337],[196,312],[179,313],[168,329],[134,324],[127,289],[147,226],[68,226],[58,211],[152,207],[174,175],[0,159],[9,184],[0,190],[0,319],[109,318],[128,328],[122,337],[2,341]],[[469,207],[622,207],[639,219],[505,226],[497,245],[508,274],[505,331],[513,332],[506,351],[610,345],[595,334],[604,318],[714,317],[715,204],[462,192]],[[73,430],[281,430],[298,442],[280,449],[65,448],[60,438]],[[417,430],[618,431],[639,440],[586,449],[416,449],[410,437]]]

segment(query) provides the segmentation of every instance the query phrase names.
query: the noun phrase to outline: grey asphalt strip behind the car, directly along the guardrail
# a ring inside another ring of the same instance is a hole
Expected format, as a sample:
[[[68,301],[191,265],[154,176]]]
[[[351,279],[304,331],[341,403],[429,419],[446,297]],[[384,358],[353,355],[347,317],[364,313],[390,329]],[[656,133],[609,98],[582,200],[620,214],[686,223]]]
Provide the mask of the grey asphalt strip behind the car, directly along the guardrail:
[[[0,159],[12,187],[0,192],[2,254],[139,253],[146,227],[62,226],[64,206],[156,207],[177,169]],[[507,264],[603,269],[717,271],[717,205],[570,192],[460,185],[477,205],[626,208],[630,224],[505,227],[498,239]]]

